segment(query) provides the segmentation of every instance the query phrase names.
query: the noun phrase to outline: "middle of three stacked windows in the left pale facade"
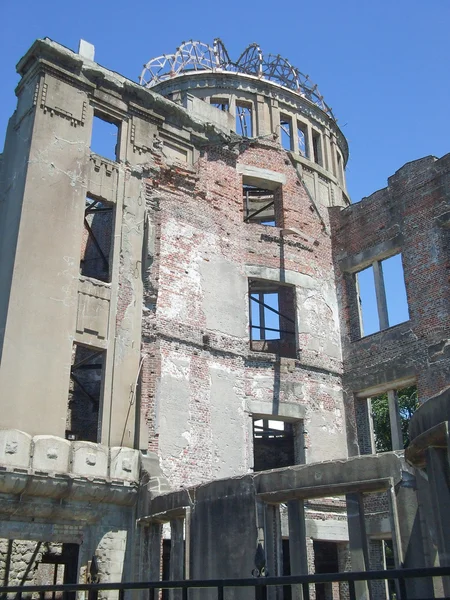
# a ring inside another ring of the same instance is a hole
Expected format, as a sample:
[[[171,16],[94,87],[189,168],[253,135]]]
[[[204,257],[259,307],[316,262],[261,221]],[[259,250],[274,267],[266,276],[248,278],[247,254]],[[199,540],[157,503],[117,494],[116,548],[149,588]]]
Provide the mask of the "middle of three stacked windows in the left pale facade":
[[[86,198],[80,272],[85,277],[111,281],[110,257],[113,240],[114,206]]]

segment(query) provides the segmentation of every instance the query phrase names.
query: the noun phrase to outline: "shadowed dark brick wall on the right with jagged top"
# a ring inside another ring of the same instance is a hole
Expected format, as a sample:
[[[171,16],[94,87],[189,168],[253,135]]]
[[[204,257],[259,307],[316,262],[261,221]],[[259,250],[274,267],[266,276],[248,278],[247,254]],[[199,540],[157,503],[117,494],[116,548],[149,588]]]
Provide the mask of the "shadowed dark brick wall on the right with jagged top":
[[[330,209],[349,413],[353,393],[416,380],[425,401],[450,382],[449,170],[449,155],[423,158],[358,204]],[[354,273],[398,252],[410,319],[361,338]]]

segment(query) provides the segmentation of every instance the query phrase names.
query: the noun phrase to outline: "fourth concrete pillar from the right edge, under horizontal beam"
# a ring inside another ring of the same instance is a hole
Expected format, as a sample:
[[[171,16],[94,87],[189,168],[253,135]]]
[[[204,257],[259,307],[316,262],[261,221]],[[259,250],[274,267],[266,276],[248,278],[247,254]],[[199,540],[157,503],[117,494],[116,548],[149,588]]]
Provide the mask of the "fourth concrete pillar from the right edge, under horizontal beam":
[[[290,500],[287,507],[291,575],[308,575],[305,504],[303,500]],[[302,587],[293,585],[291,588],[293,600],[303,600]]]

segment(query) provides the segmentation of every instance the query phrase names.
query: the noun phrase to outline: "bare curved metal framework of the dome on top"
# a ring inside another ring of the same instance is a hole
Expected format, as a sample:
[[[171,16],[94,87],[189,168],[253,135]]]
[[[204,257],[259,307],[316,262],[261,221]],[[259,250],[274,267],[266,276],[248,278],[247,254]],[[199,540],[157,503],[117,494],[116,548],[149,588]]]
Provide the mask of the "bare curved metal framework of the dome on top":
[[[161,81],[196,71],[244,73],[273,81],[307,98],[334,119],[331,108],[308,75],[279,54],[264,55],[258,44],[250,44],[237,61],[232,61],[219,38],[212,46],[193,40],[183,42],[174,54],[163,54],[145,64],[139,82],[151,88]]]

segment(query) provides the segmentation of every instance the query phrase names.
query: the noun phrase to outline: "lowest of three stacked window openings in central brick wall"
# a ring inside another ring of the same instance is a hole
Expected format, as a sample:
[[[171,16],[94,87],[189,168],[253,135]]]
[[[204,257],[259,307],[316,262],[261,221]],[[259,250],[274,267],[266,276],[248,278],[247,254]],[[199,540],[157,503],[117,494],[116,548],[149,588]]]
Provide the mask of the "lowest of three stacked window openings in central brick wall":
[[[295,464],[294,424],[272,419],[253,419],[254,471]]]

